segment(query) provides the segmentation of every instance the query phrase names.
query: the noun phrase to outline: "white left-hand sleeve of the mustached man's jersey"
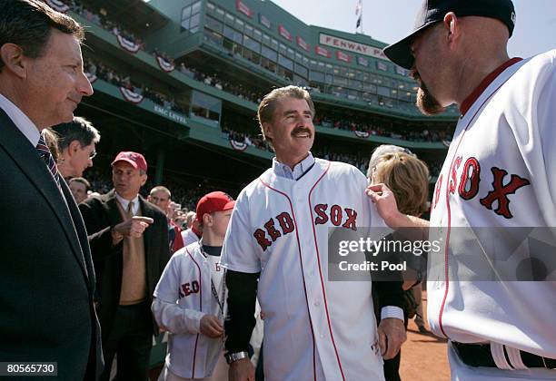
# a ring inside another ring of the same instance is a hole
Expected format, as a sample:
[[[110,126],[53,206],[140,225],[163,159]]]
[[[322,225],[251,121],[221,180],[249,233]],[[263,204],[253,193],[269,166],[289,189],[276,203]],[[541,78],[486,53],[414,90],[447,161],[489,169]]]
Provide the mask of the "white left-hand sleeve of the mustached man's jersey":
[[[249,219],[250,207],[250,200],[243,190],[235,201],[230,224],[226,230],[220,259],[223,268],[246,273],[261,271],[259,250],[255,246]]]

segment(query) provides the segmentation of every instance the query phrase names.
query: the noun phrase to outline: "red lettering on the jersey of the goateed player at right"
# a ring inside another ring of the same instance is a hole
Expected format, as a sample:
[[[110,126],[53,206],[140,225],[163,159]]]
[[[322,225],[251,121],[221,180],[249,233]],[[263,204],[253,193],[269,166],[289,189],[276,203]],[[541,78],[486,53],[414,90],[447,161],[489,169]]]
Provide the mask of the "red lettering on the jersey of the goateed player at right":
[[[463,163],[461,174],[458,176],[457,172],[462,166],[462,161],[462,156],[456,157],[453,161],[448,190],[451,194],[455,194],[457,191],[463,200],[472,200],[479,193],[481,177],[486,174],[484,171],[481,173],[481,163],[476,158],[470,157]],[[491,178],[491,188],[488,194],[479,200],[481,205],[506,219],[513,218],[510,195],[522,187],[531,185],[531,181],[515,173],[508,176],[508,171],[498,167],[491,167]],[[436,208],[438,204],[442,180],[441,175],[434,190],[432,209]]]

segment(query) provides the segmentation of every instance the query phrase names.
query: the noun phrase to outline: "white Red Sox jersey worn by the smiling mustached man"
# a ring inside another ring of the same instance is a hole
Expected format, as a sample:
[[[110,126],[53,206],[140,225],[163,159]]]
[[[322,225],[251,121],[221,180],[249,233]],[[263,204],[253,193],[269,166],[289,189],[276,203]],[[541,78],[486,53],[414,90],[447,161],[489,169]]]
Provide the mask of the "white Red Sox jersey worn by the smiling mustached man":
[[[351,165],[316,159],[297,181],[265,171],[236,200],[221,260],[261,271],[265,379],[383,379],[371,283],[328,281],[329,228],[382,221],[366,185]]]

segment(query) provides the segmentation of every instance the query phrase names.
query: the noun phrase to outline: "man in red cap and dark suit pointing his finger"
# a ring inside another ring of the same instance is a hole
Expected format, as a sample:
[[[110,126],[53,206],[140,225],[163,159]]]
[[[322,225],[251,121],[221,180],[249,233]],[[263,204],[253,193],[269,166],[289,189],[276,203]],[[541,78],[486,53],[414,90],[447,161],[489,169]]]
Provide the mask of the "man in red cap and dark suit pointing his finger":
[[[170,251],[166,216],[139,195],[146,171],[141,153],[118,153],[112,162],[114,190],[79,205],[98,279],[103,380],[116,353],[118,379],[146,379],[152,337],[158,334],[150,306]]]

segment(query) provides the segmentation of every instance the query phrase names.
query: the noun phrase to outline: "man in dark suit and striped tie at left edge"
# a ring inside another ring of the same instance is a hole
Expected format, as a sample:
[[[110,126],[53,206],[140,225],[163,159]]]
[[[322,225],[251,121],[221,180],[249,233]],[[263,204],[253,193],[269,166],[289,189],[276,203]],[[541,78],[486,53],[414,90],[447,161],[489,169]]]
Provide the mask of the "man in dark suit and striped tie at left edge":
[[[63,380],[103,366],[84,223],[41,134],[93,93],[83,38],[43,3],[0,2],[0,361],[57,362]]]

